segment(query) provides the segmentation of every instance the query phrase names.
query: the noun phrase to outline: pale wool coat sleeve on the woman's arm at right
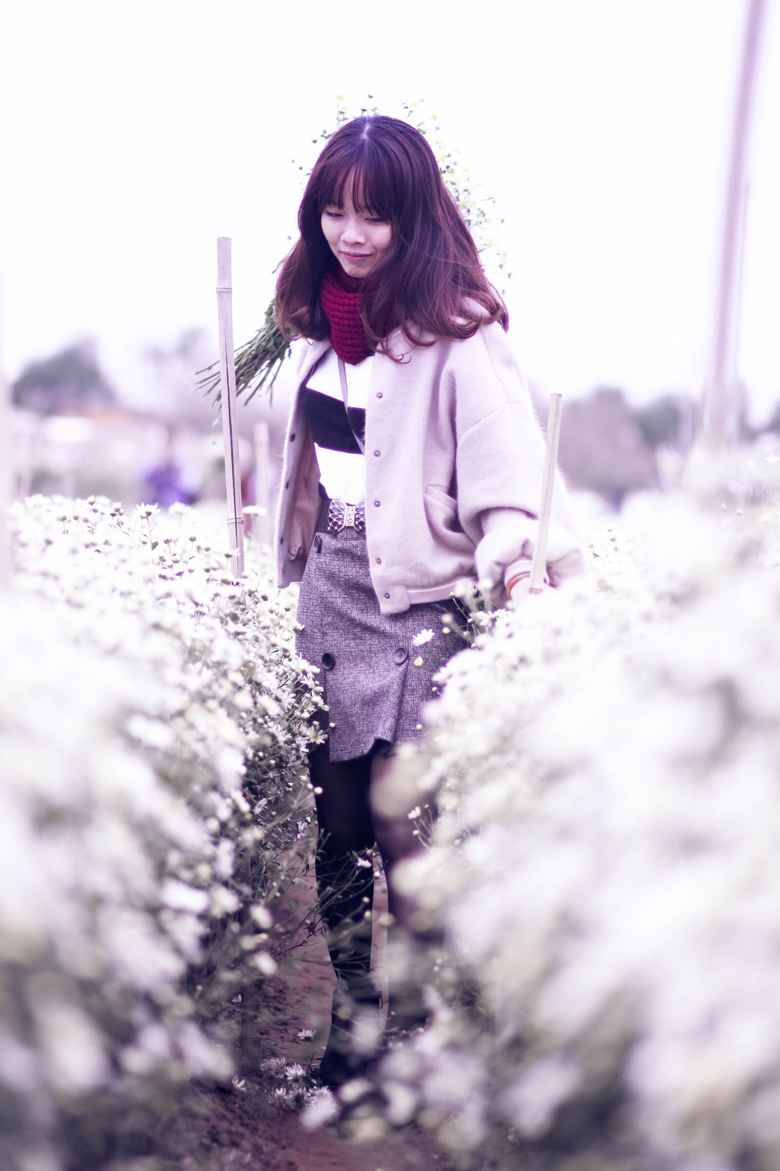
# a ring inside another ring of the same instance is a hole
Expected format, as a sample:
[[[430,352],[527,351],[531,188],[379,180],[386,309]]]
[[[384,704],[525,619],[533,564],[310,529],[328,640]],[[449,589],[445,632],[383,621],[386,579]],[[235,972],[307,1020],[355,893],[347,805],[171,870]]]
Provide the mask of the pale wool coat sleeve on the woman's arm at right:
[[[463,423],[456,447],[458,514],[477,543],[477,575],[488,605],[505,605],[506,580],[521,568],[518,562],[531,568],[535,549],[545,437],[501,326],[483,326],[468,345],[456,391]],[[583,571],[582,535],[556,467],[547,580],[557,587]]]

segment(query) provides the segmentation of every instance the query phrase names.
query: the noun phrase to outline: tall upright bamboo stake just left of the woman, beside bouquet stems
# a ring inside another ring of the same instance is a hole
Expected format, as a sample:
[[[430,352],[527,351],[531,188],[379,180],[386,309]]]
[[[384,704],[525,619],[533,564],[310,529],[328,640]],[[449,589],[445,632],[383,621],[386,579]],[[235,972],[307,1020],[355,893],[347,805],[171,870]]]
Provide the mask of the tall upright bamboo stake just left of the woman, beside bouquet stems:
[[[227,540],[231,570],[244,576],[244,515],[241,512],[241,473],[239,467],[238,429],[235,426],[235,361],[233,357],[233,285],[231,238],[217,238],[217,309],[219,315],[219,388],[225,444],[225,487],[227,491]]]

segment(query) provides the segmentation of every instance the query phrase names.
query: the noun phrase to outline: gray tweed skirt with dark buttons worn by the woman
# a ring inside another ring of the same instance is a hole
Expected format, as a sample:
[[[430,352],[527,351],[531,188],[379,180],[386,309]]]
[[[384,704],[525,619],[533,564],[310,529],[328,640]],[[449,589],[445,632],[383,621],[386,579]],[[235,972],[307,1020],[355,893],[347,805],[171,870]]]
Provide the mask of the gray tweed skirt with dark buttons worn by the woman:
[[[328,532],[322,501],[297,601],[295,651],[320,669],[322,704],[313,719],[328,735],[331,761],[351,760],[384,741],[381,753],[419,741],[425,704],[442,684],[436,672],[466,645],[467,611],[454,598],[382,614],[371,583],[365,533],[349,525]],[[444,623],[443,615],[453,621]],[[444,634],[444,630],[447,630]],[[432,637],[413,643],[415,636]]]

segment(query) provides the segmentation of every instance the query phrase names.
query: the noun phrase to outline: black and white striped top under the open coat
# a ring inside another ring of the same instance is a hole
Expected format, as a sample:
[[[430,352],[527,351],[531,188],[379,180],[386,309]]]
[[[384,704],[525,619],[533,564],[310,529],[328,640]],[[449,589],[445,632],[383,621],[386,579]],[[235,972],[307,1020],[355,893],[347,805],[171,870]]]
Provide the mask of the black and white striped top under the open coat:
[[[349,422],[338,379],[336,351],[329,349],[303,388],[303,413],[312,429],[320,465],[320,493],[355,505],[365,492],[365,457],[349,424],[365,436],[365,402],[371,375],[370,354],[357,365],[347,363]]]

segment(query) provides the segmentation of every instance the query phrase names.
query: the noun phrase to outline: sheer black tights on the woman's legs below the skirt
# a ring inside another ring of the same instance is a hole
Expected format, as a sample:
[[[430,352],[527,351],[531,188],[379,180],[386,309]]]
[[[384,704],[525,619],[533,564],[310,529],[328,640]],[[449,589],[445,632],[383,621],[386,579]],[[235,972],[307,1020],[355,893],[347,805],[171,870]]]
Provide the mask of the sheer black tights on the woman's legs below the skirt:
[[[370,982],[374,845],[382,855],[388,882],[389,939],[397,930],[408,930],[411,910],[409,899],[396,890],[394,867],[419,849],[410,809],[404,807],[394,815],[377,809],[377,804],[386,806],[376,796],[394,761],[379,754],[383,744],[375,740],[365,755],[354,760],[330,761],[327,745],[313,748],[308,758],[319,827],[320,915],[334,971],[356,989]],[[361,865],[361,860],[369,864]],[[391,992],[391,1006],[399,1000],[398,991]]]

